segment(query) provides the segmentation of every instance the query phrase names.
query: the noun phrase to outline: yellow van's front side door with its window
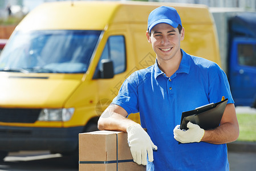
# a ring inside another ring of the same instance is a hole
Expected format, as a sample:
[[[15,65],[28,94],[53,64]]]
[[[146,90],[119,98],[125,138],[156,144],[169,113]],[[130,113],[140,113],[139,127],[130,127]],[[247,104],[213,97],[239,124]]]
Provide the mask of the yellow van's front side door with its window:
[[[104,50],[94,73],[94,80],[96,80],[99,87],[99,101],[96,105],[97,115],[101,115],[104,109],[112,102],[127,75],[126,39],[124,32],[115,32],[115,34],[109,34],[107,42],[105,42]],[[113,62],[113,78],[101,78],[102,62],[105,59]]]

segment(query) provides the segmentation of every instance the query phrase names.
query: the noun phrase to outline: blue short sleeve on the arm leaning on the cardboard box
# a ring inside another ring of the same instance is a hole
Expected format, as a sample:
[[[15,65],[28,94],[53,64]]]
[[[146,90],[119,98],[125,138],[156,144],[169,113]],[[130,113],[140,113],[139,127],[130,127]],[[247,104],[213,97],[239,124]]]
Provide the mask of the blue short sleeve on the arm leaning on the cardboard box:
[[[118,95],[113,99],[111,104],[117,104],[127,111],[128,115],[139,112],[138,92],[137,92],[138,76],[133,72],[122,84]]]

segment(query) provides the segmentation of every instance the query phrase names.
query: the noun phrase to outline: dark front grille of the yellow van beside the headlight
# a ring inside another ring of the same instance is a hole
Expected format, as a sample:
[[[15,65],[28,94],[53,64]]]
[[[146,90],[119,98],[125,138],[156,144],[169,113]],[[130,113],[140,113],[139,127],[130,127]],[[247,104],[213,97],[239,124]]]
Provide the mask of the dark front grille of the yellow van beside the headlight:
[[[3,123],[35,123],[41,109],[0,108],[0,121]]]

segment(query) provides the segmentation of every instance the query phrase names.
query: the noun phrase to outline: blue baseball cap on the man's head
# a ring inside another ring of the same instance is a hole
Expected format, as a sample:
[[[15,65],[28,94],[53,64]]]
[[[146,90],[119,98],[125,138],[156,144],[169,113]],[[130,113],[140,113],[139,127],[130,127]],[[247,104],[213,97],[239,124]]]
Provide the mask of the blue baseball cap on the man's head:
[[[177,28],[178,25],[181,25],[180,15],[173,7],[160,6],[151,11],[148,16],[148,31],[151,32],[151,29],[159,23],[166,23]]]

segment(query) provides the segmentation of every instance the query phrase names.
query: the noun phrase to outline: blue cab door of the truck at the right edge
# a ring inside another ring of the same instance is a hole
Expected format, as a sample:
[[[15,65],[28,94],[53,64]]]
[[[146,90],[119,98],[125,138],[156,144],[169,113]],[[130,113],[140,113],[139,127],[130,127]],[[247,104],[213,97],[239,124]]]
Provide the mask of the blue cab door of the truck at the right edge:
[[[230,52],[229,82],[235,104],[252,106],[256,97],[256,40],[235,38]]]

